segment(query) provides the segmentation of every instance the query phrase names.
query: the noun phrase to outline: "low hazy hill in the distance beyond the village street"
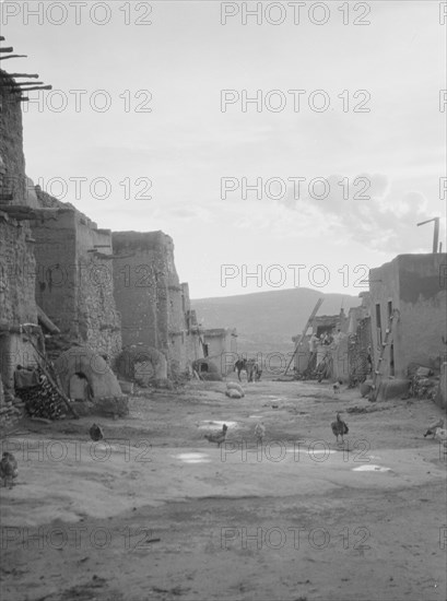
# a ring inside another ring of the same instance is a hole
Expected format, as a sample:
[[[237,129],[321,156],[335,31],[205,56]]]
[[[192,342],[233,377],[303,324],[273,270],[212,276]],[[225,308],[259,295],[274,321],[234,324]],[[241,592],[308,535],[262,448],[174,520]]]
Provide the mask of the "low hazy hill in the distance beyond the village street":
[[[191,305],[203,328],[237,328],[238,352],[289,352],[293,349],[292,337],[302,332],[321,296],[325,300],[317,315],[338,315],[341,306],[348,315],[351,307],[361,304],[357,296],[299,287],[198,298]]]

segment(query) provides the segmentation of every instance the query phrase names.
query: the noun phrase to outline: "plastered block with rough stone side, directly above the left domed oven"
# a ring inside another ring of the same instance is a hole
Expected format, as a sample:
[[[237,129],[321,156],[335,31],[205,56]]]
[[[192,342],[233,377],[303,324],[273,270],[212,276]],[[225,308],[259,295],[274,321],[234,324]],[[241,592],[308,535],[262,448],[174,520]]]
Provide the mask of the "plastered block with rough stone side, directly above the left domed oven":
[[[121,350],[120,317],[113,293],[110,232],[63,208],[56,221],[35,222],[36,300],[67,341],[115,358]],[[69,344],[67,344],[69,345]]]

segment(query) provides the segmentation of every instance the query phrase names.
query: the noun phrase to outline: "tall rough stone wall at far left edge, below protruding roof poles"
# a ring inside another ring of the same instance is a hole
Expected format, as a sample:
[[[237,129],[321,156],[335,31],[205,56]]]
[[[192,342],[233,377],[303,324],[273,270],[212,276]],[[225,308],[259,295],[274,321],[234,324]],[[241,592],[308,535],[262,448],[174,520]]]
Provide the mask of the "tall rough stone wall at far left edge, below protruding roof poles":
[[[12,204],[26,203],[25,157],[23,154],[22,105],[10,93],[13,82],[0,70],[0,198]],[[0,205],[0,425],[10,425],[22,413],[23,403],[14,398],[16,365],[35,364],[34,344],[40,343],[38,328],[30,339],[22,326],[37,325],[34,297],[35,259],[27,221],[15,221],[1,213]]]

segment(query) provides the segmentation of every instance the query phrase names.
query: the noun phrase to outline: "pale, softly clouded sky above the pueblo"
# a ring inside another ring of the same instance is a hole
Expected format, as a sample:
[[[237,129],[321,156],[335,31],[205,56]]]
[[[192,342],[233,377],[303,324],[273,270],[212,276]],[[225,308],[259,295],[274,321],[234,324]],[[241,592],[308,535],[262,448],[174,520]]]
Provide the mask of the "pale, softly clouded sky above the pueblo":
[[[445,238],[443,5],[4,0],[27,58],[2,68],[52,85],[24,103],[27,175],[98,227],[172,236],[192,298],[356,295],[432,250],[419,222]]]

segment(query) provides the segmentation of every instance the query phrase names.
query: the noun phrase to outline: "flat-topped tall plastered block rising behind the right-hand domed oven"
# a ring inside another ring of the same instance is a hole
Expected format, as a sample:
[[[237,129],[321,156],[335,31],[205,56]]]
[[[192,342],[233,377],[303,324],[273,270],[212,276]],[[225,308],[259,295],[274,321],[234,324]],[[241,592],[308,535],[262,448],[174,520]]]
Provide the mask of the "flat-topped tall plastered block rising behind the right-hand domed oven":
[[[163,232],[114,232],[113,251],[123,346],[153,346],[166,355],[170,375],[186,370],[187,299],[175,268],[172,238]]]

